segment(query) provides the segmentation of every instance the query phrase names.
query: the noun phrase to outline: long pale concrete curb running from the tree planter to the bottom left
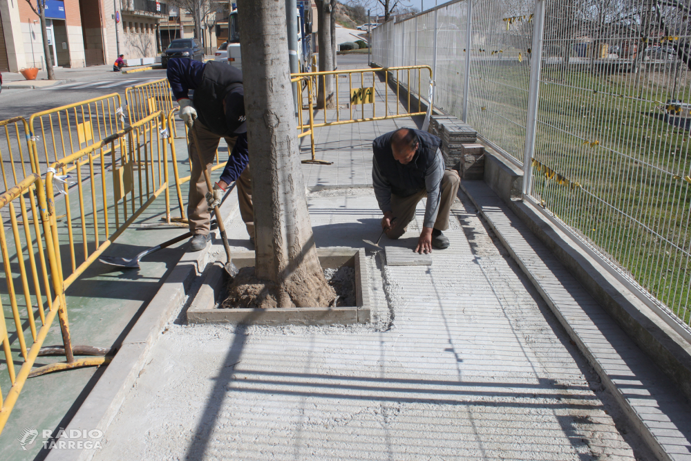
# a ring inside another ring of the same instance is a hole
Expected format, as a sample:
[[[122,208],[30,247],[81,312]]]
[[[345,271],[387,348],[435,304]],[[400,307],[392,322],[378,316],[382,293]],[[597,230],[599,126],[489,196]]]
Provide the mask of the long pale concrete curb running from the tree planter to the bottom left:
[[[233,189],[234,187],[228,189],[225,200],[220,207],[221,214],[226,216],[226,223],[233,218],[239,208],[238,201],[233,200],[229,194]],[[65,428],[67,434],[70,433],[70,430],[84,431],[84,429],[87,431],[98,429],[103,433],[106,432],[120,410],[129,389],[132,388],[139,373],[144,368],[146,355],[157,341],[161,330],[173,312],[180,308],[184,302],[191,282],[204,271],[209,262],[216,260],[215,255],[219,247],[223,248],[220,244],[212,244],[207,246],[205,250],[188,252],[180,258],[156,296],[122,341],[122,345],[117,350],[111,364],[107,366],[102,377]],[[59,444],[61,440],[62,438],[57,443]],[[74,440],[71,441],[74,442]],[[70,440],[66,439],[65,442],[70,442]],[[96,449],[83,447],[54,449],[48,453],[45,459],[46,461],[88,461],[93,458],[95,452]]]

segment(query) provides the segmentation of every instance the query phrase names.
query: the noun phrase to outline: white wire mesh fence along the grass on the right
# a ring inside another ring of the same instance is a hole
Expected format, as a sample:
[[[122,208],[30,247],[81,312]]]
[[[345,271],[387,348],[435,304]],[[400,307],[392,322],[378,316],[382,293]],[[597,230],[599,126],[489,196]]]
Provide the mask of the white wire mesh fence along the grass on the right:
[[[527,160],[525,197],[688,325],[690,7],[452,1],[377,27],[372,60],[430,65],[435,107]]]

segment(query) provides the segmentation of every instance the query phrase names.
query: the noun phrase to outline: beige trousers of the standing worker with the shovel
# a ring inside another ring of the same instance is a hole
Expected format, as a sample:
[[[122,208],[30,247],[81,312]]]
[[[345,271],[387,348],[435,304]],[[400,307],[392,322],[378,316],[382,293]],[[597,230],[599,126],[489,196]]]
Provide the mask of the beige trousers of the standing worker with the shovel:
[[[211,167],[214,166],[214,157],[218,149],[221,136],[211,133],[206,126],[199,120],[194,122],[194,129],[197,132],[202,161],[207,165],[209,174]],[[228,153],[233,151],[237,136],[232,138],[223,137],[228,144]],[[192,173],[189,180],[189,195],[187,196],[187,219],[189,220],[189,230],[195,235],[209,234],[211,213],[207,205],[207,182],[202,174],[202,169],[197,160],[197,149],[194,144],[192,133],[189,133],[189,159],[192,164]],[[238,202],[240,203],[240,216],[242,216],[247,233],[254,237],[254,208],[252,207],[252,173],[247,168],[236,181],[235,187],[238,189]]]

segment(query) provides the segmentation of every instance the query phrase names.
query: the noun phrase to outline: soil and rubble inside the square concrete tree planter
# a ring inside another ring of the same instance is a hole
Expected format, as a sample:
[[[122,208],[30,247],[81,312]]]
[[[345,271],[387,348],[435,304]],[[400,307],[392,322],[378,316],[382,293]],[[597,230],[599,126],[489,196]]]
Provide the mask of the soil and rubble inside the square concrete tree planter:
[[[290,295],[293,290],[281,290],[277,283],[257,279],[254,274],[254,267],[243,267],[234,280],[228,283],[227,297],[218,305],[218,308],[272,309],[278,307],[350,307],[355,305],[355,270],[353,267],[343,266],[339,269],[325,269],[324,276],[328,285],[325,289],[320,290],[319,299],[328,298],[328,303],[319,305],[319,301],[316,301],[314,295]],[[301,283],[300,286],[294,288],[299,290],[309,285]],[[281,297],[285,299],[285,294],[288,294],[291,303],[281,306],[279,301]]]

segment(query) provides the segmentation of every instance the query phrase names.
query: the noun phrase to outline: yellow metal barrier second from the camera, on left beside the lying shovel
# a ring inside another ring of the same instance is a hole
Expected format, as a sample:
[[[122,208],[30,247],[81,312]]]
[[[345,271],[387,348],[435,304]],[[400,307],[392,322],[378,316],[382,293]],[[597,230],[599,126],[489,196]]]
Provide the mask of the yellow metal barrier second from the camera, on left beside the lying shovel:
[[[48,169],[48,206],[51,211],[64,211],[67,216],[72,273],[64,279],[65,288],[68,288],[86,267],[153,203],[155,198],[167,191],[168,162],[163,131],[165,126],[166,120],[162,113],[155,112],[101,142],[55,162]],[[77,201],[70,200],[67,188],[62,189],[58,186],[59,194],[54,194],[54,179],[59,182],[68,169],[76,171]],[[59,196],[64,197],[60,204],[54,202],[54,197]],[[167,198],[167,204],[168,200]],[[75,215],[77,216],[72,218]],[[78,221],[78,231],[81,232],[74,232],[73,221]],[[88,234],[87,228],[93,229],[93,232]],[[91,253],[90,246],[93,246]],[[77,266],[78,259],[83,261]]]

